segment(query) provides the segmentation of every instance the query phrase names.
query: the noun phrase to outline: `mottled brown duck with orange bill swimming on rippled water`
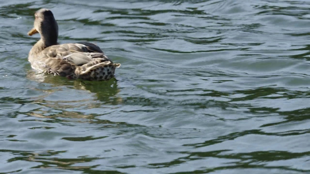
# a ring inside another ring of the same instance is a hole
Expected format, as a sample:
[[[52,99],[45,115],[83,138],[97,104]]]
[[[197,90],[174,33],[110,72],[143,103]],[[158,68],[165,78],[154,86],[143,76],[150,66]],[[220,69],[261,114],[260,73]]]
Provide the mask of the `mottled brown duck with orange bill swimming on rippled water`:
[[[34,70],[90,81],[110,80],[120,63],[113,63],[99,46],[90,42],[58,43],[58,24],[51,10],[41,8],[34,13],[33,28],[27,33],[40,34],[29,51],[28,61]]]

